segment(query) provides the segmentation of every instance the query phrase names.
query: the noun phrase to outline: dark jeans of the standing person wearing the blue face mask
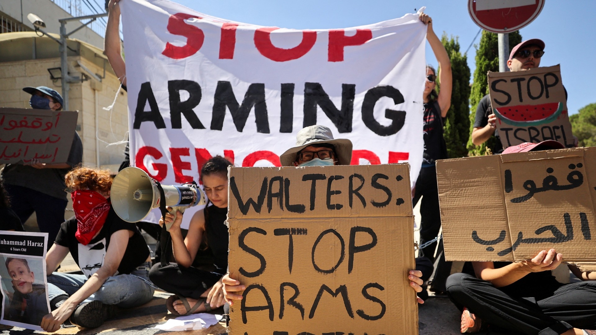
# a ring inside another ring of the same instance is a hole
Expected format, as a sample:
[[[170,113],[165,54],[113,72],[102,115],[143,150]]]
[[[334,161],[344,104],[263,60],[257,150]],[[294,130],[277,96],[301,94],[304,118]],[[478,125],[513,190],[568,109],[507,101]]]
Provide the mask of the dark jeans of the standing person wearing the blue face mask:
[[[39,231],[48,233],[49,249],[60,231],[60,225],[64,222],[64,210],[69,201],[48,196],[28,187],[10,184],[4,184],[4,187],[11,198],[11,209],[21,219],[23,225],[35,212]]]

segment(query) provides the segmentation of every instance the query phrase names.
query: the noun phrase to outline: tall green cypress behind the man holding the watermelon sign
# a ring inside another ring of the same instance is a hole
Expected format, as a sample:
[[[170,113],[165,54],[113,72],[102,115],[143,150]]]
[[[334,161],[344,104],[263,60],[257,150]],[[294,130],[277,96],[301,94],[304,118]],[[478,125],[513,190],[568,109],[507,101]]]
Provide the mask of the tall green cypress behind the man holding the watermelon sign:
[[[513,48],[522,42],[522,35],[519,31],[509,33],[509,48]],[[476,70],[474,70],[474,82],[472,83],[470,92],[470,138],[468,140],[468,155],[480,156],[488,154],[486,147],[493,147],[496,141],[495,137],[489,138],[488,141],[482,145],[476,146],[472,143],[471,133],[474,127],[474,119],[476,119],[476,107],[478,103],[486,94],[488,94],[488,77],[486,73],[489,71],[499,71],[499,41],[496,33],[482,30],[482,37],[479,45],[476,46]]]

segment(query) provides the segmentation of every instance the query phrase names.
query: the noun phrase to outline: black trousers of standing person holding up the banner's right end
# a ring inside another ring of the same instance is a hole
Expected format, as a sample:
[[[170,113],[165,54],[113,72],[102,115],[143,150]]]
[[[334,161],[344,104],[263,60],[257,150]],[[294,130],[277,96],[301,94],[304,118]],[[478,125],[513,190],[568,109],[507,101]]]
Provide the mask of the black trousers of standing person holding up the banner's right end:
[[[420,175],[416,180],[416,190],[412,205],[416,206],[420,197],[422,197],[420,204],[420,244],[430,241],[437,237],[441,227],[441,212],[439,209],[439,188],[437,188],[437,168],[431,166],[430,168],[421,168]],[[423,255],[434,261],[434,249],[437,243],[432,243],[424,249],[421,249]]]

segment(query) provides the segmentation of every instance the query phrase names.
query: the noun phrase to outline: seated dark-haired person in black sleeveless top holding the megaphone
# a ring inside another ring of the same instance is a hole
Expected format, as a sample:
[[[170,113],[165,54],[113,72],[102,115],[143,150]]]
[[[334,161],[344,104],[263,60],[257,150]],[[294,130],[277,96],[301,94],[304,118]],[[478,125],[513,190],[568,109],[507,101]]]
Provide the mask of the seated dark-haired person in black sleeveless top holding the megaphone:
[[[228,166],[227,159],[215,156],[201,168],[201,181],[205,194],[212,203],[193,215],[186,238],[182,238],[180,224],[182,213],[166,214],[166,224],[172,224],[172,250],[176,263],[162,266],[156,264],[149,272],[149,278],[157,287],[174,293],[167,299],[167,309],[173,315],[187,315],[209,312],[224,305],[222,276],[228,268]],[[163,225],[163,220],[160,220]],[[206,239],[215,259],[215,269],[199,269],[195,263],[201,240]]]

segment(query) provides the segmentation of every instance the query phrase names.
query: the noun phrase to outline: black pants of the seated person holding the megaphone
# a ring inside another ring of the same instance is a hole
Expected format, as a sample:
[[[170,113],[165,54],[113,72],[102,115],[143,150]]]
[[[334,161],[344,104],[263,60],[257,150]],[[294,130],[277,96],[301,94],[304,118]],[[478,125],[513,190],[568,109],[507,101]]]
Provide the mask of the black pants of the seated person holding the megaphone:
[[[176,263],[162,266],[153,265],[149,279],[160,289],[180,297],[198,299],[206,290],[223,277],[216,272],[209,272],[189,266],[184,268]]]

